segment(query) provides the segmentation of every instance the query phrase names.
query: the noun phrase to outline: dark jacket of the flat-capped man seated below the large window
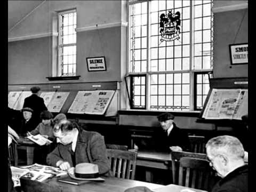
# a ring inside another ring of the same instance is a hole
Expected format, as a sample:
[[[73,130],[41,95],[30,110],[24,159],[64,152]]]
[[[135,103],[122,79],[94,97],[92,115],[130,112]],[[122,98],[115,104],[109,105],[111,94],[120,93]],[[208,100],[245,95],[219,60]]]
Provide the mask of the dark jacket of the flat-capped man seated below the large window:
[[[168,136],[167,133],[159,127],[154,134],[154,138],[154,146],[156,150],[170,152],[171,146],[179,146],[183,151],[190,151],[190,143],[187,133],[179,129],[175,123],[173,123],[173,129]]]

